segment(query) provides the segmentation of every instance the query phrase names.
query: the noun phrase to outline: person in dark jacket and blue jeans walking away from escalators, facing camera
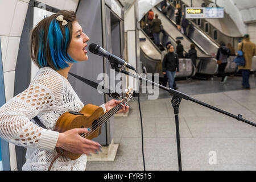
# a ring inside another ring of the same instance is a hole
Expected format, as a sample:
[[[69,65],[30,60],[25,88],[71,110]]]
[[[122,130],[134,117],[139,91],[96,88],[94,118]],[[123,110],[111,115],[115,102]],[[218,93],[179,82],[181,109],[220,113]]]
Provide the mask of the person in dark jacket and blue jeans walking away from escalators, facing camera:
[[[170,46],[169,52],[164,56],[163,74],[168,77],[169,88],[174,89],[176,71],[179,72],[179,56],[174,52],[174,46]]]

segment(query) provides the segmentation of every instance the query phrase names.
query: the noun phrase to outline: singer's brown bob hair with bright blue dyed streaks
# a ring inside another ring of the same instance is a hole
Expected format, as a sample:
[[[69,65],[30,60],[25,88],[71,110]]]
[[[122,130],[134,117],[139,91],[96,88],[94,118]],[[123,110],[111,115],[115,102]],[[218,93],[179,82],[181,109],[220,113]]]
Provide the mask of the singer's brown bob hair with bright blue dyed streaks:
[[[56,20],[63,15],[68,24]],[[72,22],[76,20],[74,11],[59,11],[39,22],[31,34],[31,58],[39,68],[51,67],[55,70],[69,67],[66,63],[75,63],[68,55],[68,46],[72,38]]]

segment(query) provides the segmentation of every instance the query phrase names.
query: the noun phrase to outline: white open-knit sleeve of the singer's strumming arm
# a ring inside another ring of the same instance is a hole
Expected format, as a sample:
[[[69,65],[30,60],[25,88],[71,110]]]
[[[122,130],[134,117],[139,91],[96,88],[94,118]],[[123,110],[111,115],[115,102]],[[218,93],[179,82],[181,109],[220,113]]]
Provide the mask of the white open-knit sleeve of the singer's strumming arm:
[[[26,90],[0,107],[0,137],[18,146],[54,150],[59,133],[30,120],[44,109],[60,105],[63,80],[59,73],[42,69]]]

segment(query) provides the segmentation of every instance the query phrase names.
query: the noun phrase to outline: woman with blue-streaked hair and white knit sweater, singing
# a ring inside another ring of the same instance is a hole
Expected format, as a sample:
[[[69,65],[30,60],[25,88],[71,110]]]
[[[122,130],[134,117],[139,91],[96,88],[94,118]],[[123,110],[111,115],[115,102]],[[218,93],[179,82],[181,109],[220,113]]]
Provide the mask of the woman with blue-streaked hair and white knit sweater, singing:
[[[57,155],[55,147],[83,155],[76,160],[60,156],[52,170],[85,170],[86,155],[100,151],[99,143],[80,136],[88,132],[86,128],[53,131],[60,115],[84,107],[67,78],[73,64],[88,60],[88,41],[74,11],[59,11],[32,30],[31,58],[40,69],[24,92],[0,108],[0,137],[27,147],[23,170],[47,170]],[[101,107],[108,111],[120,102],[110,100]],[[128,110],[122,105],[118,113]],[[47,129],[36,125],[36,116]]]

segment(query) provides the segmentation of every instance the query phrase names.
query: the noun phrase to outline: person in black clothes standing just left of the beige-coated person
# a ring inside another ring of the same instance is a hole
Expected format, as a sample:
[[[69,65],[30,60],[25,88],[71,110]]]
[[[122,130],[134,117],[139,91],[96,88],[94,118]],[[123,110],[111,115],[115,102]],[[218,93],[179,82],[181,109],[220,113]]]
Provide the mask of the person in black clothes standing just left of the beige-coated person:
[[[218,64],[218,75],[221,76],[221,84],[224,84],[228,78],[225,73],[226,64],[228,64],[228,57],[230,55],[230,50],[226,47],[224,42],[220,42],[220,48],[216,55]]]

